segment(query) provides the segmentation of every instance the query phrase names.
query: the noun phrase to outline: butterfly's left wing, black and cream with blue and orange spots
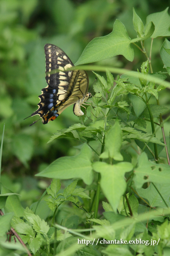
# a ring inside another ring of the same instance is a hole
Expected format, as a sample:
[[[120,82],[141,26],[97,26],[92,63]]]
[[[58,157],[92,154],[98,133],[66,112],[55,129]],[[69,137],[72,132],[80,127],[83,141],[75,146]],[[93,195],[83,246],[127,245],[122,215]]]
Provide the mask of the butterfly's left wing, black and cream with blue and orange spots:
[[[43,124],[55,119],[57,108],[72,93],[73,87],[70,85],[72,71],[65,71],[74,66],[65,52],[57,46],[46,44],[45,47],[46,76],[47,87],[42,89],[38,110],[31,116],[39,115]],[[55,72],[57,69],[60,72]]]

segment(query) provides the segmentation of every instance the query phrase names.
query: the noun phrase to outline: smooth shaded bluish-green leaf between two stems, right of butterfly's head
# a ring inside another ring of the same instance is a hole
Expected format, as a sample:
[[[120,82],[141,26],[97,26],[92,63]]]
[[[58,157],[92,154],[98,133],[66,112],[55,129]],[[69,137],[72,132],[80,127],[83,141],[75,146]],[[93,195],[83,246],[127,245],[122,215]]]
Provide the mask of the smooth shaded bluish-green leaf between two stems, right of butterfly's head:
[[[146,108],[146,104],[134,94],[129,93],[128,96],[132,103],[136,117],[139,117]]]

